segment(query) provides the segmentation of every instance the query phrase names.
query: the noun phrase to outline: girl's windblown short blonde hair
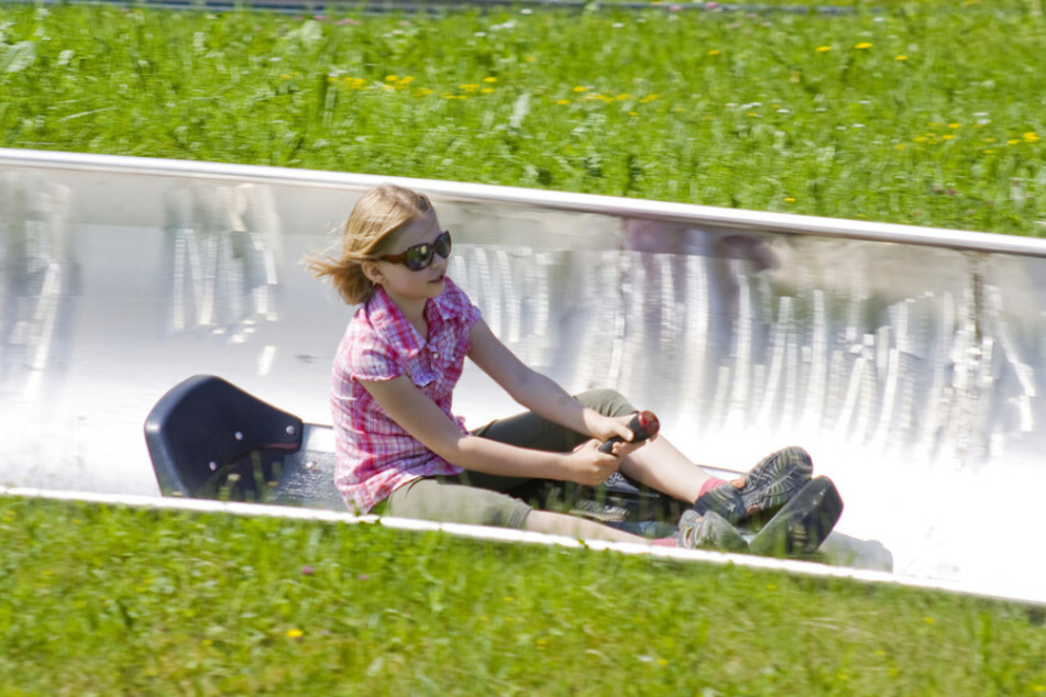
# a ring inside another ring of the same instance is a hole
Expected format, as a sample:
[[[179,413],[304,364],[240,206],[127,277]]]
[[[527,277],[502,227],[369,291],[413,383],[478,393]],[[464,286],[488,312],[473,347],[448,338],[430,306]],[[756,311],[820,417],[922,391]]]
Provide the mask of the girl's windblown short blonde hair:
[[[392,252],[396,232],[432,210],[432,201],[419,191],[383,184],[368,189],[349,214],[341,236],[341,254],[312,256],[306,264],[317,278],[330,277],[338,295],[349,305],[365,302],[374,281],[363,273],[363,263]]]

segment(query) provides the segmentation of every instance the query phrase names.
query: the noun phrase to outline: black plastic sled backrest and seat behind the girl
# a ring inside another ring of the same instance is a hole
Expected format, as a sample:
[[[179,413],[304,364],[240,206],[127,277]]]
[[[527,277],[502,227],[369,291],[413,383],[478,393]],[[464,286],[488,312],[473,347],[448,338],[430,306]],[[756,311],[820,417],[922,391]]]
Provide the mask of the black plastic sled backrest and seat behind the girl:
[[[344,510],[333,433],[211,375],[168,390],[145,419],[164,496]]]

